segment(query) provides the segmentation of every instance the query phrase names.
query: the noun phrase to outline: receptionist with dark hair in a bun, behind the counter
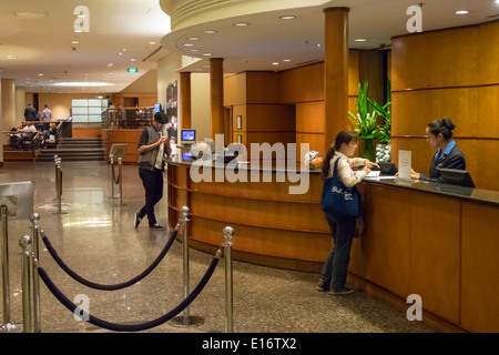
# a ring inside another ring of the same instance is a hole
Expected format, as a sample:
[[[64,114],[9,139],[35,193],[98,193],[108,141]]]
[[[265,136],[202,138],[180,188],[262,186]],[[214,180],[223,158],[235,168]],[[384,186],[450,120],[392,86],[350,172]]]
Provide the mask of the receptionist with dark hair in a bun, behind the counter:
[[[428,144],[437,152],[431,161],[429,175],[419,174],[413,170],[411,178],[421,181],[444,182],[439,169],[466,170],[466,159],[459,146],[452,140],[456,125],[450,119],[435,120],[426,128]]]

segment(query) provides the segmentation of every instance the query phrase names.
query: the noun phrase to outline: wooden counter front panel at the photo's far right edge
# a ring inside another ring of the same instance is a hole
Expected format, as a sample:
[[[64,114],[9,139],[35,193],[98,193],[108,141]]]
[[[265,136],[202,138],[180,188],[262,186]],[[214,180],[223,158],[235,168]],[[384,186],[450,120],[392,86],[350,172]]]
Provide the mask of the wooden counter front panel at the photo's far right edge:
[[[497,207],[462,203],[461,325],[499,332]]]

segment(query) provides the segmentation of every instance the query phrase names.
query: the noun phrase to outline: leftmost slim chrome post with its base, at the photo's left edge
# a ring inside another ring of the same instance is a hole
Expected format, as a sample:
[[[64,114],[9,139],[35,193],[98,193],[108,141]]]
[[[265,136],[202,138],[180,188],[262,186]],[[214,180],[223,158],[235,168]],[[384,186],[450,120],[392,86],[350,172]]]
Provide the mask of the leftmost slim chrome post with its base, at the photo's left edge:
[[[0,206],[0,220],[2,229],[1,254],[2,254],[2,291],[3,291],[3,324],[0,333],[20,333],[22,324],[10,323],[10,274],[9,274],[9,230],[8,210],[6,205]]]

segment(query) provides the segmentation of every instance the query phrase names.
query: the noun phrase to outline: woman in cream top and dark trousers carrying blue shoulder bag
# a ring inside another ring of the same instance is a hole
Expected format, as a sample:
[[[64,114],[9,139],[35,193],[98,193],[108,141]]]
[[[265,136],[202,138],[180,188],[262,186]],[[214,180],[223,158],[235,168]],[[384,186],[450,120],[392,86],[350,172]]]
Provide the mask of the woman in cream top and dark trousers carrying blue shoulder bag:
[[[370,172],[369,166],[378,166],[378,164],[363,158],[348,158],[354,155],[356,151],[357,136],[355,133],[350,131],[339,132],[324,159],[322,169],[323,179],[333,176],[335,164],[337,164],[338,178],[345,186],[352,187],[363,181]],[[352,170],[352,166],[360,165],[365,165],[361,171],[355,173]],[[317,283],[317,290],[329,291],[332,295],[352,294],[354,290],[345,287],[345,284],[356,219],[339,217],[330,213],[325,213],[325,215],[334,239],[334,246],[324,263],[323,272]]]

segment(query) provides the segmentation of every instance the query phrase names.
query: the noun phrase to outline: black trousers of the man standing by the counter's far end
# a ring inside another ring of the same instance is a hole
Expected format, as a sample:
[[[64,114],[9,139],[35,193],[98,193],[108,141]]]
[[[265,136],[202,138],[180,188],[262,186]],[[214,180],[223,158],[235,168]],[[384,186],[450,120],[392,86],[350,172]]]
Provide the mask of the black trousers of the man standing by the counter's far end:
[[[145,189],[145,204],[139,211],[138,216],[143,219],[147,215],[149,226],[156,224],[154,206],[163,197],[163,172],[157,169],[139,169],[139,176]]]

